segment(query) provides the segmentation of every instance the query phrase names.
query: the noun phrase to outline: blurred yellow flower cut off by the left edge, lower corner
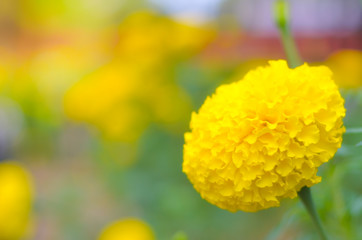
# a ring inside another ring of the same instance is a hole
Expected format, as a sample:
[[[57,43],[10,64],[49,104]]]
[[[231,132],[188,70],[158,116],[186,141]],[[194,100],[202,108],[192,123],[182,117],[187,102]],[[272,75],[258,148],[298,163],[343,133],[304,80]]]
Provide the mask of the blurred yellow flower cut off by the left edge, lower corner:
[[[29,233],[33,189],[28,173],[16,163],[0,163],[0,239]]]

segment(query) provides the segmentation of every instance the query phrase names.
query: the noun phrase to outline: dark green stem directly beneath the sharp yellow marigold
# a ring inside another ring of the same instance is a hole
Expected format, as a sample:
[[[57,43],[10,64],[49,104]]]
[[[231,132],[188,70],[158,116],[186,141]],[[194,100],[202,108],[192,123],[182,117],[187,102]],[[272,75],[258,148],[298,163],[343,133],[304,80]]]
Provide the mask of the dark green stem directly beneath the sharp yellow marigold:
[[[319,219],[318,213],[313,204],[310,188],[303,187],[298,192],[298,196],[302,200],[305,208],[307,209],[307,212],[309,213],[315,226],[317,227],[319,236],[321,237],[322,240],[327,240],[327,235],[326,235],[325,231],[323,230],[321,220]]]

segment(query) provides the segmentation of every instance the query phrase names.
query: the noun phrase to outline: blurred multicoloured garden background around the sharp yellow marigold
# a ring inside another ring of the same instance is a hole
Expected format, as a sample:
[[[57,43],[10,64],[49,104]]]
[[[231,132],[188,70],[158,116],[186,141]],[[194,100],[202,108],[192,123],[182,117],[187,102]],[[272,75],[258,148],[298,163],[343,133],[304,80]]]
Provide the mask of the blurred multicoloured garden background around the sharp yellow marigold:
[[[128,218],[161,240],[317,239],[297,200],[229,213],[182,173],[191,112],[285,58],[272,2],[1,0],[0,239],[97,239]],[[304,61],[330,66],[346,100],[317,209],[331,239],[362,239],[362,133],[349,130],[362,127],[362,2],[290,3]]]

